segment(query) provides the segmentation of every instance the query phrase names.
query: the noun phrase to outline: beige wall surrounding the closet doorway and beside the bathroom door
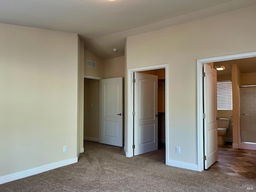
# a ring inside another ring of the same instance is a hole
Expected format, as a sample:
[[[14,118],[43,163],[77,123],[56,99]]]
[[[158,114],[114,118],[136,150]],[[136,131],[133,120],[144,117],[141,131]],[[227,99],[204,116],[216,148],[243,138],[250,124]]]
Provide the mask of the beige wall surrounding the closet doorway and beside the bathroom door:
[[[196,60],[255,51],[254,18],[256,6],[127,38],[126,72],[168,64],[168,161],[192,166],[198,162]],[[125,104],[127,113],[127,96]],[[125,134],[126,147],[127,124]],[[180,154],[175,146],[180,146]]]

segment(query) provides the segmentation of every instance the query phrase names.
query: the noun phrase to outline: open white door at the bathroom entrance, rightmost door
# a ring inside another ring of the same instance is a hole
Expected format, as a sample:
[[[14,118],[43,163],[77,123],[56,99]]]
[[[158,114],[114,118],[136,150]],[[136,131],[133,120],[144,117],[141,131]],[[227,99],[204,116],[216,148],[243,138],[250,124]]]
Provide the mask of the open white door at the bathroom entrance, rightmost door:
[[[204,168],[218,159],[217,71],[204,64]]]

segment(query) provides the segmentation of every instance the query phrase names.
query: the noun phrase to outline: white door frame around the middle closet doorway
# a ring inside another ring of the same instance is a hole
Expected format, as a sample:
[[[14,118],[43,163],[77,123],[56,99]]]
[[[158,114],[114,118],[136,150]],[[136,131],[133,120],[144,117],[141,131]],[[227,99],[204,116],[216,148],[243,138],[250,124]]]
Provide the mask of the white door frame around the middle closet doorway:
[[[133,79],[133,73],[139,72],[139,71],[147,71],[147,70],[155,70],[155,69],[165,69],[165,143],[166,143],[166,163],[168,162],[168,64],[162,64],[162,65],[154,65],[154,66],[147,66],[147,67],[141,67],[141,68],[132,68],[128,69],[128,97],[127,97],[127,146],[125,146],[124,150],[127,157],[134,156],[133,153],[133,86],[132,86],[132,79]]]

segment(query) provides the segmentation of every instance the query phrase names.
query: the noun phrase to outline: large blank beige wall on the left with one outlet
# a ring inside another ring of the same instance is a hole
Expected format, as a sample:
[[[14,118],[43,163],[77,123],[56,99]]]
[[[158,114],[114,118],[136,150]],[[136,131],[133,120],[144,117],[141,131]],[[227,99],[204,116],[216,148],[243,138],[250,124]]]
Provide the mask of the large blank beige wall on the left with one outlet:
[[[78,35],[0,24],[0,69],[0,176],[76,157]]]

